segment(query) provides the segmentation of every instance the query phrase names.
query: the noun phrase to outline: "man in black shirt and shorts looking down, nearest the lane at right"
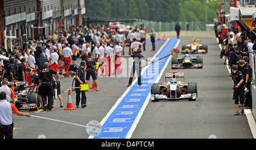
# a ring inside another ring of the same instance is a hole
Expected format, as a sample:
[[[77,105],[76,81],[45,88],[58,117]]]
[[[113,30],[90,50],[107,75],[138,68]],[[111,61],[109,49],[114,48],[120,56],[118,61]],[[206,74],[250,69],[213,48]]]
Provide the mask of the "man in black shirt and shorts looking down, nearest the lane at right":
[[[234,102],[235,102],[235,105],[236,105],[236,113],[234,115],[240,115],[239,113],[239,102],[240,101],[240,104],[242,106],[242,111],[241,111],[241,114],[244,113],[243,111],[243,106],[244,106],[244,101],[245,101],[245,86],[243,84],[243,74],[242,72],[238,71],[237,70],[237,66],[236,65],[233,65],[231,67],[231,70],[232,70],[232,73],[230,73],[230,76],[233,77],[233,81],[234,81],[234,93],[233,93],[233,99],[234,99]],[[239,98],[238,98],[239,97]],[[239,99],[239,100],[238,100]]]

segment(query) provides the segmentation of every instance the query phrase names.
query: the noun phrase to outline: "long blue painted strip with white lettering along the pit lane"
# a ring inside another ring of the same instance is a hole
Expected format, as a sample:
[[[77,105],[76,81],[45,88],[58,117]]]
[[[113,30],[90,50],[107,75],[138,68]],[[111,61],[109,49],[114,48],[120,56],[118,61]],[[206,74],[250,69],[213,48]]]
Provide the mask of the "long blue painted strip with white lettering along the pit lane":
[[[177,39],[167,40],[167,43],[165,43],[162,49],[159,50],[160,52],[155,56],[154,61],[170,55],[171,49],[175,47],[177,41]],[[146,70],[141,74],[142,86],[138,86],[138,80],[133,82],[133,86],[130,87],[130,90],[121,99],[118,105],[112,108],[114,110],[110,112],[111,114],[109,114],[104,124],[102,124],[101,134],[94,136],[94,139],[126,138],[144,102],[150,94],[152,84],[157,80],[164,65],[168,63],[169,57],[157,61],[159,63],[156,62],[155,64],[148,65]],[[147,70],[150,70],[150,73],[147,73]]]

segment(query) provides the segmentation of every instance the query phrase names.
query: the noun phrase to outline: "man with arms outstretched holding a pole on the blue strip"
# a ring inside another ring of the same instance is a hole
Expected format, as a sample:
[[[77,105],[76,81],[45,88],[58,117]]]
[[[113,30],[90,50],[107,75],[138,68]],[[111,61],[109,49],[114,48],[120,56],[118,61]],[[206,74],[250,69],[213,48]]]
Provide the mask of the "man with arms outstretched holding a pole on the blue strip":
[[[128,86],[131,86],[131,82],[133,82],[133,76],[135,73],[135,70],[137,72],[138,76],[138,85],[141,86],[141,60],[146,60],[154,63],[154,61],[146,59],[143,55],[141,55],[141,48],[137,49],[137,52],[133,53],[132,55],[127,56],[120,56],[120,57],[133,57],[133,70],[131,70],[130,79]]]

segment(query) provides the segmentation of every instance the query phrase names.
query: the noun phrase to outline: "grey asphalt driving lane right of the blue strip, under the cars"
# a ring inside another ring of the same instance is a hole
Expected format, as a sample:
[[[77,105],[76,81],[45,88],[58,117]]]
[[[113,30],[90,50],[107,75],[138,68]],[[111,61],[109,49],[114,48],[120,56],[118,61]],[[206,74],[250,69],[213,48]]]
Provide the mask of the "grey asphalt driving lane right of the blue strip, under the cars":
[[[189,39],[181,37],[178,48]],[[185,82],[197,82],[197,101],[150,101],[131,138],[253,138],[246,115],[234,116],[233,83],[216,39],[201,38],[201,43],[208,45],[208,53],[200,54],[203,69],[177,69]],[[165,72],[171,71],[170,61]],[[164,81],[163,74],[159,82]]]

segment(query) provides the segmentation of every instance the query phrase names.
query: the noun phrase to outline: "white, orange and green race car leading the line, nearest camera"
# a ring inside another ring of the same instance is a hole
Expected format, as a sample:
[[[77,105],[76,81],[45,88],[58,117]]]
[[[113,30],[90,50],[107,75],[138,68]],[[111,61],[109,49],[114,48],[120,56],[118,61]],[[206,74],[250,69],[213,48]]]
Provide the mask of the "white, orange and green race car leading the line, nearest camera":
[[[183,78],[183,82],[177,81],[177,78]],[[167,79],[170,81],[167,81]],[[189,99],[189,101],[195,101],[196,98],[197,83],[184,82],[183,73],[166,73],[166,83],[157,83],[151,86],[151,101],[159,101],[160,99]]]

